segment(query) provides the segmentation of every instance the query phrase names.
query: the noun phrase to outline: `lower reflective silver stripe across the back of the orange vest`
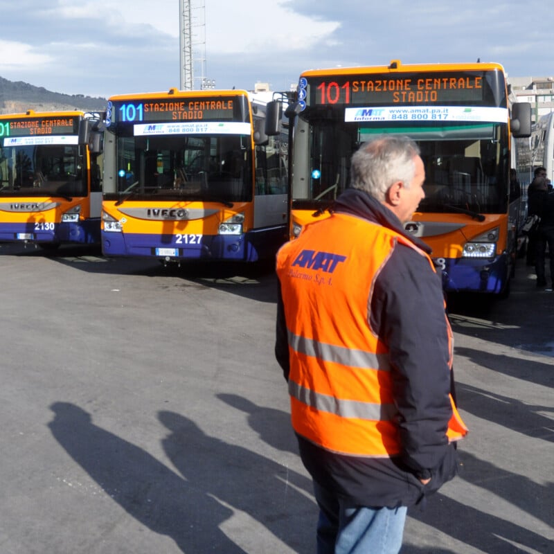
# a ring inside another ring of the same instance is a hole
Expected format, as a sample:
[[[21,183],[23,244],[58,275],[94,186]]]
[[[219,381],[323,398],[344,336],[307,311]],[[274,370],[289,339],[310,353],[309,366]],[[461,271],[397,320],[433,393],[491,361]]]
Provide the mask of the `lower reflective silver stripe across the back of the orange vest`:
[[[289,381],[289,394],[303,404],[319,411],[334,413],[341,418],[357,418],[370,421],[390,421],[397,415],[394,404],[372,404],[358,400],[340,400],[326,394],[310,391],[298,383]]]

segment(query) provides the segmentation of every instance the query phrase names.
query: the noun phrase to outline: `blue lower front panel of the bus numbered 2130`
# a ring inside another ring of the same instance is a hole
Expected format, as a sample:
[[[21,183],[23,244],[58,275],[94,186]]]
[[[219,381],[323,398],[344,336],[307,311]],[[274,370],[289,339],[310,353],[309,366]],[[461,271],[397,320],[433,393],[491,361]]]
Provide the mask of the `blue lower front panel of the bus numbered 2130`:
[[[0,223],[0,242],[75,242],[98,244],[100,220],[80,223]]]

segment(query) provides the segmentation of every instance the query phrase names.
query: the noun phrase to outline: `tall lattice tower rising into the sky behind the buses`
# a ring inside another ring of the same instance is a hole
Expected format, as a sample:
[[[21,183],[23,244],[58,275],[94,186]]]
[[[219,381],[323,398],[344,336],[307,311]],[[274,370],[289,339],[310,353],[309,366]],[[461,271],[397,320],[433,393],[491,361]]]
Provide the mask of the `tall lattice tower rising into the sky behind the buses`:
[[[181,90],[213,88],[206,79],[206,6],[204,0],[179,0]]]

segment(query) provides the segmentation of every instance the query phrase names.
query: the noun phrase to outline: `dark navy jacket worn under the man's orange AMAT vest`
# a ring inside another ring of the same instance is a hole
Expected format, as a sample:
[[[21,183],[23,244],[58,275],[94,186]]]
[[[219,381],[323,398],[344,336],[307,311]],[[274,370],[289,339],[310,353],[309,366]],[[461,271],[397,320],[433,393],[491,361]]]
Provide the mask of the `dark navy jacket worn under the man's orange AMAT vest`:
[[[391,211],[361,190],[346,190],[334,211],[387,226],[430,252],[405,233]],[[411,506],[456,474],[455,447],[445,436],[451,415],[448,394],[454,391],[443,289],[440,276],[413,249],[399,244],[384,265],[368,298],[368,324],[390,351],[402,455],[344,456],[298,436],[301,458],[315,481],[350,503]],[[280,292],[275,351],[288,379],[287,326]],[[431,482],[422,485],[418,478],[427,476]]]

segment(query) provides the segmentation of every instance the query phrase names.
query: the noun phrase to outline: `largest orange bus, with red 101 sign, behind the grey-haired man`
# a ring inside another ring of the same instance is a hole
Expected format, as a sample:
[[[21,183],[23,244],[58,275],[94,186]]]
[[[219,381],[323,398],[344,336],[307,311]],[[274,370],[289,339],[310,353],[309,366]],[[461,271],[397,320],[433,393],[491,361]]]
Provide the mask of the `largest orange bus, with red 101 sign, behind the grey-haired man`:
[[[530,105],[510,102],[501,65],[393,60],[305,71],[286,114],[292,238],[332,210],[361,143],[410,136],[425,162],[426,197],[406,231],[433,249],[447,292],[508,294],[519,220],[511,137],[529,136]]]

